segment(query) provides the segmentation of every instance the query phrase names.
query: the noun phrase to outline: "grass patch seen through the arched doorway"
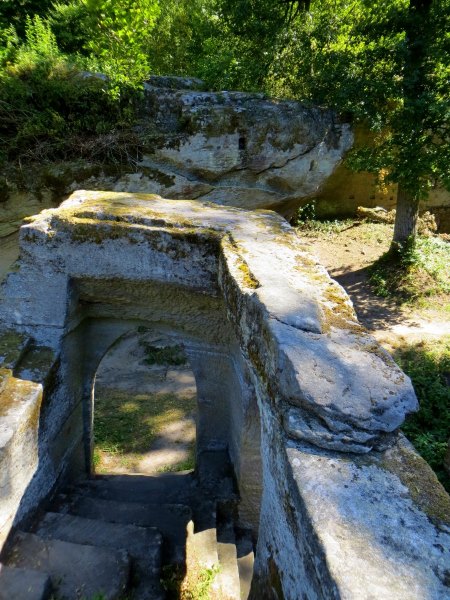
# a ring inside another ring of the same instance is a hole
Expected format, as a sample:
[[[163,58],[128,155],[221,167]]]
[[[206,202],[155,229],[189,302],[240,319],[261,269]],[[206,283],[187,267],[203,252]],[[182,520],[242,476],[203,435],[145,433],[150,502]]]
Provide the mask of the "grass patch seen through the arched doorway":
[[[121,390],[98,390],[95,398],[93,463],[97,472],[116,464],[136,469],[144,453],[164,426],[195,413],[195,396],[137,394]],[[189,459],[189,465],[190,465]],[[188,461],[180,463],[178,470]],[[174,466],[174,469],[178,465]],[[187,467],[191,468],[190,466]]]

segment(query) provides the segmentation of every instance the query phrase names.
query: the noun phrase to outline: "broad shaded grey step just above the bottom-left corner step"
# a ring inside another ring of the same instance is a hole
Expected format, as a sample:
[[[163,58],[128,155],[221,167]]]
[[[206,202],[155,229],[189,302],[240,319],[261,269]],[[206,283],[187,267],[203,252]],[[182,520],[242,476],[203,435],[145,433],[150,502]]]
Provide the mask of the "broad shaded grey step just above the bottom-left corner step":
[[[96,595],[118,600],[128,586],[129,558],[124,550],[44,540],[18,532],[6,563],[47,573],[58,600]]]

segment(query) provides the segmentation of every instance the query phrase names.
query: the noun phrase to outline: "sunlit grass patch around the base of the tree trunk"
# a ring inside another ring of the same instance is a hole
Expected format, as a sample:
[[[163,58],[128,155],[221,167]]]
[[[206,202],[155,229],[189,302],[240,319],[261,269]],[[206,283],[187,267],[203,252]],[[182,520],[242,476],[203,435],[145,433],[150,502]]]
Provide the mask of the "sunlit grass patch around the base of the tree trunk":
[[[415,302],[450,294],[450,244],[438,237],[417,237],[416,242],[391,249],[369,268],[378,296]]]

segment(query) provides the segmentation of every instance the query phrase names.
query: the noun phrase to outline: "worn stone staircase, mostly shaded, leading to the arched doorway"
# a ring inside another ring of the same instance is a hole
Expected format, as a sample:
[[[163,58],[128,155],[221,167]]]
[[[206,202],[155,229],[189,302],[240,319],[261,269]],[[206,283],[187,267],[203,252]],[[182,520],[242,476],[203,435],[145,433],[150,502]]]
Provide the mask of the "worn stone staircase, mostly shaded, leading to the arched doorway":
[[[0,600],[175,599],[176,577],[195,590],[205,573],[211,599],[244,600],[253,541],[236,526],[237,500],[223,451],[200,454],[195,475],[80,482],[29,531],[15,532],[2,561]]]

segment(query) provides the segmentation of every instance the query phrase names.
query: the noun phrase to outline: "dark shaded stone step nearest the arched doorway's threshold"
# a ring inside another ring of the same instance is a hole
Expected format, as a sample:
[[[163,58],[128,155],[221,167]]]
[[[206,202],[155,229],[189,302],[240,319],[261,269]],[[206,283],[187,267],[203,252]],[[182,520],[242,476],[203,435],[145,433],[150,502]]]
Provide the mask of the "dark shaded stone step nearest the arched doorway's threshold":
[[[191,504],[197,487],[191,473],[102,475],[78,484],[83,494],[103,500],[150,504]]]

